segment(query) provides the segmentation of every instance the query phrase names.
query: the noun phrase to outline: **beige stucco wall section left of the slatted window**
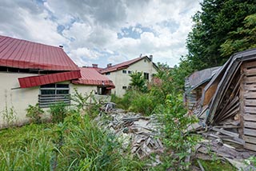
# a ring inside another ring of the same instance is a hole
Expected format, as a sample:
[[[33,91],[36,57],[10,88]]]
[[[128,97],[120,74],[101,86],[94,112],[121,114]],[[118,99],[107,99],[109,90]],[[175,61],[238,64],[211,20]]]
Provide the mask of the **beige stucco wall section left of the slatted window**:
[[[37,74],[18,74],[0,72],[0,127],[6,125],[3,120],[6,108],[14,109],[15,122],[17,124],[27,121],[26,108],[28,105],[35,105],[38,102],[39,87],[27,89],[14,89],[19,87],[18,78],[30,77]]]

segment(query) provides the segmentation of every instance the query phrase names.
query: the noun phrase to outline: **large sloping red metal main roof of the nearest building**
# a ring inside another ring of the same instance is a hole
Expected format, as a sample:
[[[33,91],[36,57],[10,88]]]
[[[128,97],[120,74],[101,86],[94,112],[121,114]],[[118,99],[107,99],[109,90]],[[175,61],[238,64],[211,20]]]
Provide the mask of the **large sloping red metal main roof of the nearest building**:
[[[60,47],[1,35],[0,66],[39,70],[79,70]]]

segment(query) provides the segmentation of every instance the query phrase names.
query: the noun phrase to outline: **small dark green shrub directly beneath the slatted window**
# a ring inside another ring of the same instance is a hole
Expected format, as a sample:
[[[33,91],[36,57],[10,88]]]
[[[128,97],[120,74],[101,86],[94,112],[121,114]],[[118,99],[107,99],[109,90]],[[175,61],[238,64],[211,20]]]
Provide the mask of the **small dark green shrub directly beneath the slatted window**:
[[[64,102],[60,102],[54,105],[50,105],[49,113],[51,115],[52,121],[54,123],[58,123],[64,121],[64,118],[68,113],[68,109],[66,109],[66,104]]]

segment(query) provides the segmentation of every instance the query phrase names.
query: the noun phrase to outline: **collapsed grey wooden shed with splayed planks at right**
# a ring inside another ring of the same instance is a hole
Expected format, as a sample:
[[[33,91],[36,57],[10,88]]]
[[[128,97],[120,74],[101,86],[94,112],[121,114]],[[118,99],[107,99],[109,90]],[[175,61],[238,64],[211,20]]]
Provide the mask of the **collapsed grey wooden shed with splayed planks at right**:
[[[186,103],[206,129],[201,133],[221,138],[236,148],[256,151],[256,49],[234,54],[212,71],[201,71],[198,75],[208,72],[207,77],[192,79],[198,83],[194,87],[189,78],[186,81]],[[194,95],[200,90],[201,94]]]

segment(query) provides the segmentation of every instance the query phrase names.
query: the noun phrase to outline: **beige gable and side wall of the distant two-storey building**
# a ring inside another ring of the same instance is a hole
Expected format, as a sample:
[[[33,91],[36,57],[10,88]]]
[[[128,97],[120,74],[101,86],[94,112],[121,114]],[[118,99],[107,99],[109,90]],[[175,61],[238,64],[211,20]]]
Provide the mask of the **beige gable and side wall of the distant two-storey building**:
[[[110,75],[106,75],[112,82],[114,82],[115,88],[112,89],[111,93],[116,94],[118,97],[122,97],[126,93],[126,89],[122,89],[123,86],[128,87],[130,84],[130,76],[128,71],[138,71],[143,73],[149,73],[149,80],[152,78],[152,74],[156,74],[157,70],[154,68],[153,63],[147,59],[142,59],[139,62],[129,66],[126,70],[126,74],[122,73],[122,70],[111,72]]]

